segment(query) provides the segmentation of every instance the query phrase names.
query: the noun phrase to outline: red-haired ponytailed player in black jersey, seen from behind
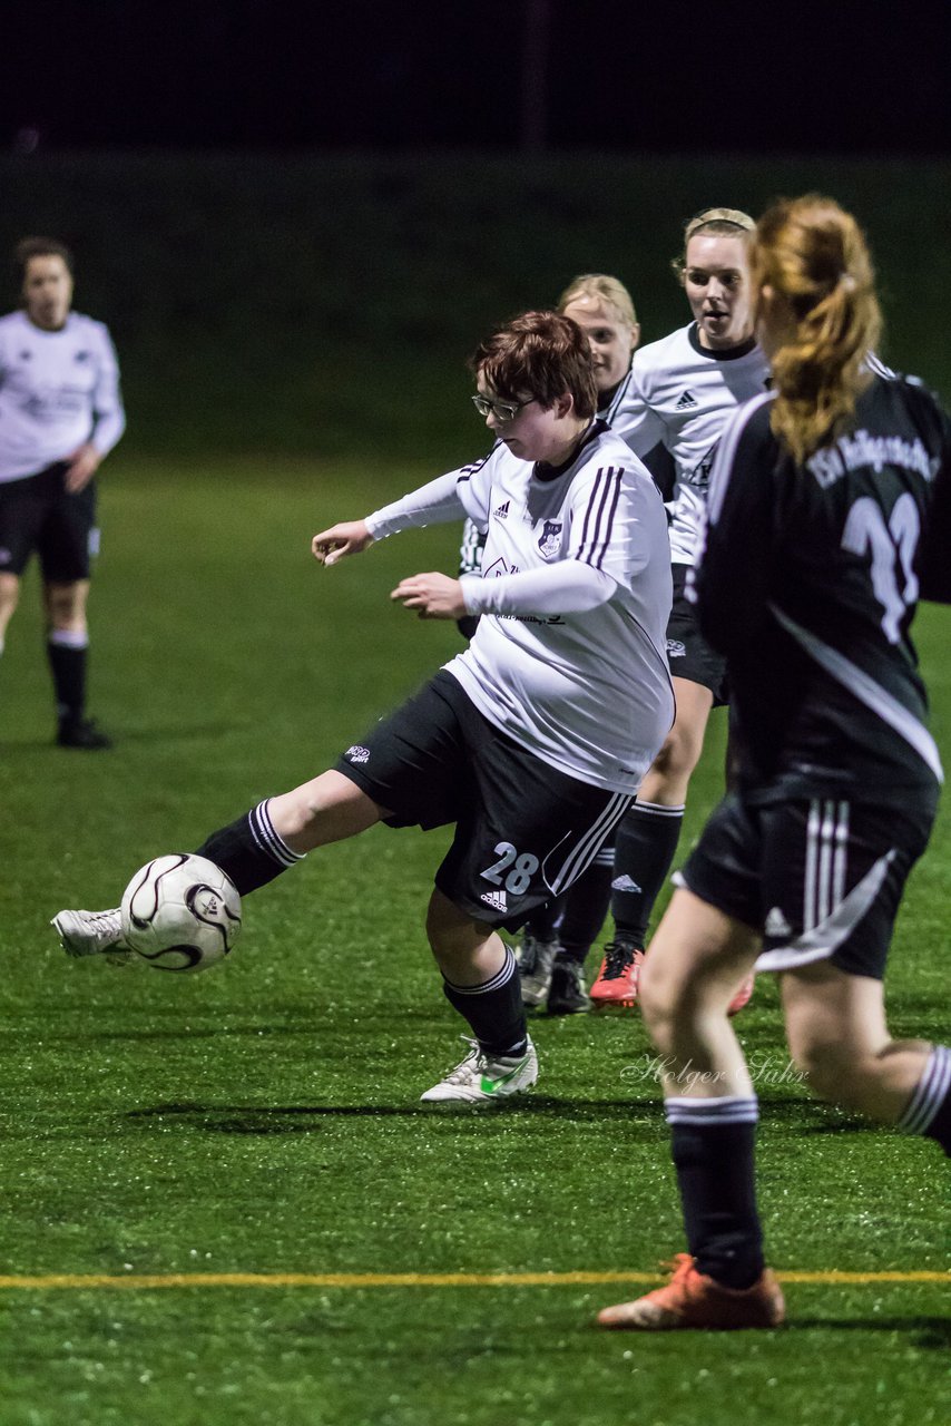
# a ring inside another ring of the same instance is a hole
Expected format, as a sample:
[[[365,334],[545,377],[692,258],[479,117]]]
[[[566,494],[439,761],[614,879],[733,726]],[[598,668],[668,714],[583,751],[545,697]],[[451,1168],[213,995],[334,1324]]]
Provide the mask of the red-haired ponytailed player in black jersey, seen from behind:
[[[739,780],[650,945],[640,1004],[664,1064],[689,1253],[609,1328],[783,1319],[764,1266],[757,1099],[727,1018],[756,964],[781,974],[813,1089],[951,1152],[951,1051],[891,1038],[883,975],[941,764],[908,637],[951,603],[951,424],[874,358],[880,315],[854,220],[778,202],[751,251],[774,389],[727,425],[694,600],[727,657]],[[690,1067],[690,1074],[686,1068]]]

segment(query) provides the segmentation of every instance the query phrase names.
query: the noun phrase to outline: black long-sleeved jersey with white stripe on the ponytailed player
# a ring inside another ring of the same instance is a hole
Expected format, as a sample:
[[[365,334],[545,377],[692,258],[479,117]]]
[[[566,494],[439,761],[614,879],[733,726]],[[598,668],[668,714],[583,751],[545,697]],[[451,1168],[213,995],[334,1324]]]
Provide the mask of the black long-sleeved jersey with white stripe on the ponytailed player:
[[[951,602],[951,424],[915,382],[875,374],[848,432],[798,466],[773,401],[724,429],[693,583],[729,662],[740,789],[934,796],[910,626],[920,597]]]

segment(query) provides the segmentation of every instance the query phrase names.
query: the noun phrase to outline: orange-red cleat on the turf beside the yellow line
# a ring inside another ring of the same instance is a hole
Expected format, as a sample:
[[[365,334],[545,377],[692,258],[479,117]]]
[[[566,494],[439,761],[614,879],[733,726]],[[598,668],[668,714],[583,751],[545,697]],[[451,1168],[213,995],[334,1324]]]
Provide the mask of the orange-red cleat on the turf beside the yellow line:
[[[697,1272],[690,1253],[677,1253],[676,1271],[666,1288],[656,1288],[634,1302],[619,1302],[597,1313],[602,1328],[634,1332],[676,1332],[680,1328],[777,1328],[786,1302],[776,1275],[766,1268],[751,1288],[723,1288]]]

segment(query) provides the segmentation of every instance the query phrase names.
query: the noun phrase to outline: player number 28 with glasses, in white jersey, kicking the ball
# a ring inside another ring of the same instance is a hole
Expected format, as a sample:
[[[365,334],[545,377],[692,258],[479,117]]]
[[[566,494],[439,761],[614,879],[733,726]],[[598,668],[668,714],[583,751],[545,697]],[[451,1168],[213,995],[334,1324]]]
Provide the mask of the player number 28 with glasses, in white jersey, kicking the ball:
[[[207,838],[241,894],[378,821],[456,824],[426,934],[472,1050],[423,1099],[492,1102],[535,1084],[516,930],[569,887],[630,806],[673,719],[664,659],[670,550],[660,495],[595,418],[587,341],[529,312],[483,342],[475,465],[314,536],[336,565],[411,526],[488,526],[480,575],[421,573],[392,597],[422,619],[482,619],[469,647],[336,766]],[[118,913],[56,918],[70,954],[121,948]]]

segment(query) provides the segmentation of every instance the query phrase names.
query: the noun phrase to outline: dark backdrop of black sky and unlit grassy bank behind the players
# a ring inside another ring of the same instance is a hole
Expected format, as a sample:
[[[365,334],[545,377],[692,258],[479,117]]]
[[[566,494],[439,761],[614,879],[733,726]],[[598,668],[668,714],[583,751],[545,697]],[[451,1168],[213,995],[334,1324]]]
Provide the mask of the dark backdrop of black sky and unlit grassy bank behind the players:
[[[821,190],[868,232],[883,355],[951,396],[950,53],[950,3],[23,0],[0,260],[73,247],[114,461],[445,466],[479,453],[486,331],[606,271],[656,339],[687,217]]]

